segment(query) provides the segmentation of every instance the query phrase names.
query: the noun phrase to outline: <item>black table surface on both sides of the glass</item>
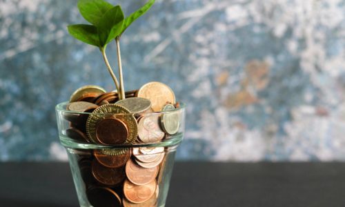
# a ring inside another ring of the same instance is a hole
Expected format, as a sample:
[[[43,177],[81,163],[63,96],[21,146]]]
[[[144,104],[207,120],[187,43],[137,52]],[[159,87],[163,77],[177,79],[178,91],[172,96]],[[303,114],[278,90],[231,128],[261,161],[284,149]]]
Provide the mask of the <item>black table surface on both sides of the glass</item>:
[[[0,206],[78,206],[68,164],[0,164]],[[177,162],[166,206],[345,206],[345,163]]]

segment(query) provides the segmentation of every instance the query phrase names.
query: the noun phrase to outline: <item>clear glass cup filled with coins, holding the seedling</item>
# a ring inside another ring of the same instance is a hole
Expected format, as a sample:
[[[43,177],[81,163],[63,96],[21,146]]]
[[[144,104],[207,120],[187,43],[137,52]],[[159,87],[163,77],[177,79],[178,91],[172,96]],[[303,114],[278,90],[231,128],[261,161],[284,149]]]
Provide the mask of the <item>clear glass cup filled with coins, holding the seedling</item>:
[[[67,106],[57,105],[57,125],[80,206],[165,206],[184,137],[185,105],[137,114],[77,112]],[[113,140],[123,143],[104,144]]]

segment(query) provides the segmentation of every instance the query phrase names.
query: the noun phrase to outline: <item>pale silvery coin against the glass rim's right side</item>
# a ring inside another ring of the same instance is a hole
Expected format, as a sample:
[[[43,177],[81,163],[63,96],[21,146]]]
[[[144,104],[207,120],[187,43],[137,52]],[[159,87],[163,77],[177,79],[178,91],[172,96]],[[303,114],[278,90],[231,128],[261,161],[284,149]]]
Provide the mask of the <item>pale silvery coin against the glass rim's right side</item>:
[[[169,135],[175,135],[179,131],[179,112],[174,111],[175,106],[166,104],[161,115],[161,128]]]

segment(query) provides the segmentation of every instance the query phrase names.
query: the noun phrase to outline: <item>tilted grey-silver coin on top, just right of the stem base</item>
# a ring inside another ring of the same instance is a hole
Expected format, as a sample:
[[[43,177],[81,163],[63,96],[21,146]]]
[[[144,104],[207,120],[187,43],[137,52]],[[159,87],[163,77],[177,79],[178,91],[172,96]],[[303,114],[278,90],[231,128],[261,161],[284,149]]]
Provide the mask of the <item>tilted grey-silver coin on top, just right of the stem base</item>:
[[[132,97],[128,99],[122,99],[116,102],[119,106],[124,106],[132,113],[140,113],[145,112],[146,110],[150,109],[151,101],[148,99],[140,98],[140,97]]]

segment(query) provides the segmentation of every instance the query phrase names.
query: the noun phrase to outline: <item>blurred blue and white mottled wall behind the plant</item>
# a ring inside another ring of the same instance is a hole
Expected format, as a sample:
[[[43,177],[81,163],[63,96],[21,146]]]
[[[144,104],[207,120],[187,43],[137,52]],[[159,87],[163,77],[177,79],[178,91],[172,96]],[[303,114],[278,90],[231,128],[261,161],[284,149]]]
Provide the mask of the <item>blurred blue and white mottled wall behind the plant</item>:
[[[120,2],[126,14],[145,3]],[[99,50],[66,32],[83,22],[76,5],[0,0],[0,160],[66,159],[55,104],[86,84],[114,89]],[[158,1],[121,39],[126,89],[161,81],[188,103],[178,159],[345,161],[344,11],[340,0]]]

